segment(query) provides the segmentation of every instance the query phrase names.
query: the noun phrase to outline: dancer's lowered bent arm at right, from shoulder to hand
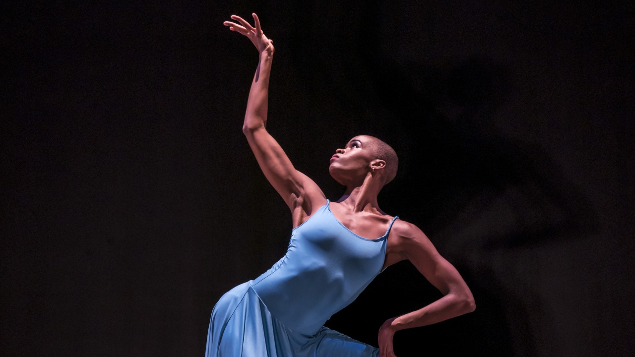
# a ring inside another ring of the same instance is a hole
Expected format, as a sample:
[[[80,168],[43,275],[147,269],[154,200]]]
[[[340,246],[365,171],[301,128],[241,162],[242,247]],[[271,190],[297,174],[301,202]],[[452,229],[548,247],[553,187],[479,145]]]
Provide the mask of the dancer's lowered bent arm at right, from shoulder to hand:
[[[379,330],[380,357],[394,356],[392,337],[405,328],[420,327],[474,311],[474,297],[457,269],[437,252],[430,239],[414,224],[394,225],[394,254],[408,259],[443,297],[417,311],[385,321]],[[397,259],[399,260],[399,259]]]

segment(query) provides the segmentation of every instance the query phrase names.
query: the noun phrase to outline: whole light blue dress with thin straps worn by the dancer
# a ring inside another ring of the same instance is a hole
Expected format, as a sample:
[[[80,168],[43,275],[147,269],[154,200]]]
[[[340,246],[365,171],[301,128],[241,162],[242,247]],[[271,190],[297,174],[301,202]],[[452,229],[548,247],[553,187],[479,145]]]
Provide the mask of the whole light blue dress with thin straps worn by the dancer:
[[[218,300],[205,356],[378,356],[378,348],[330,330],[324,322],[380,273],[397,218],[384,236],[366,239],[335,218],[327,199],[293,229],[282,259]]]

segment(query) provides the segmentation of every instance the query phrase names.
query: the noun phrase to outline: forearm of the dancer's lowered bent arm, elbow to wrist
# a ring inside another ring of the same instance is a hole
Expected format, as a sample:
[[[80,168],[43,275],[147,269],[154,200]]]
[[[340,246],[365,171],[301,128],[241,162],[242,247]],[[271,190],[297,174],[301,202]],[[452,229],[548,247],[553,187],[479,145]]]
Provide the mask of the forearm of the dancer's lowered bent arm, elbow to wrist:
[[[472,311],[474,311],[474,299],[471,293],[468,295],[448,293],[422,309],[392,319],[390,324],[396,332],[405,328],[432,325]]]

